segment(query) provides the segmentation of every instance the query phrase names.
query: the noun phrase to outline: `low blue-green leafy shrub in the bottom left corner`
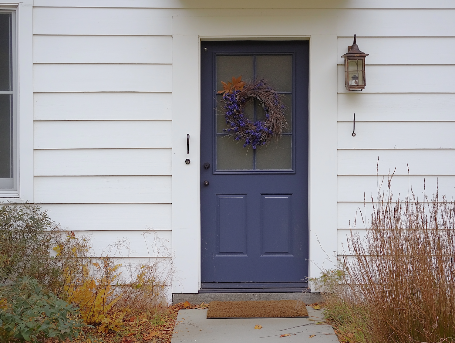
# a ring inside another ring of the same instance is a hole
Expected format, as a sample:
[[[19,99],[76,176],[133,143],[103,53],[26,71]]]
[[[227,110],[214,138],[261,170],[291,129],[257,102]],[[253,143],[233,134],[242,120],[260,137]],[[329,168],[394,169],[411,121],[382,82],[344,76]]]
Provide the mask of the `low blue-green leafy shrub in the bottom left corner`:
[[[78,311],[53,293],[44,294],[36,279],[24,277],[0,287],[1,342],[42,342],[77,337],[84,326]]]

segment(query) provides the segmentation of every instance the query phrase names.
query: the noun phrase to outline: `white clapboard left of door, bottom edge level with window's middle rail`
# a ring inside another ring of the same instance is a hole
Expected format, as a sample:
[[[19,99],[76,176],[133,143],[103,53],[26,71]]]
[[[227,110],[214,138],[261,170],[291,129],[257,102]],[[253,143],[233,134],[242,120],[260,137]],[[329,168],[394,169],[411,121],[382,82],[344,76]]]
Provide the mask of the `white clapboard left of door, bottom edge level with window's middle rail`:
[[[171,64],[35,64],[34,92],[172,92]]]

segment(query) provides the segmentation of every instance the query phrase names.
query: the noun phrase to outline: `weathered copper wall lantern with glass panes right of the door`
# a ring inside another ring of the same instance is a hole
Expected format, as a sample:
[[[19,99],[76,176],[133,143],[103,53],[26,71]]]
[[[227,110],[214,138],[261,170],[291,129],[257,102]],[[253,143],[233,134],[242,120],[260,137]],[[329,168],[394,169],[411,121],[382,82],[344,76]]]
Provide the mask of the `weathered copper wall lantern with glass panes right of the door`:
[[[348,52],[344,57],[344,84],[348,91],[361,91],[365,88],[365,57],[369,54],[359,50],[354,43],[348,46]]]

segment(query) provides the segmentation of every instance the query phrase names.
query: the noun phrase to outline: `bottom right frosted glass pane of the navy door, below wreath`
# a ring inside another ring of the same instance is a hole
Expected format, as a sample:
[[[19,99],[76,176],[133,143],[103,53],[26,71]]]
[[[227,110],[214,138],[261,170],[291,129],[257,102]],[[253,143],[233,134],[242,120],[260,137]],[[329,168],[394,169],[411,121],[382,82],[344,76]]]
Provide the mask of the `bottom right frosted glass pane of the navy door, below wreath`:
[[[256,169],[292,169],[292,135],[272,140],[256,152]]]

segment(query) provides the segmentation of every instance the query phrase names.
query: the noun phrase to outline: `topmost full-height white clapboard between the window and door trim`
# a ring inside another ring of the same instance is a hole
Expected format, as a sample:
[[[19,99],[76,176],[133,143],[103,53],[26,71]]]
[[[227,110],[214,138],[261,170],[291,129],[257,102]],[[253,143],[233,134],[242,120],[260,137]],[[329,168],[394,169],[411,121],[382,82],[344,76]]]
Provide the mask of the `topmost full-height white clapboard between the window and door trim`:
[[[172,14],[153,9],[33,9],[35,35],[160,35],[172,34]]]

